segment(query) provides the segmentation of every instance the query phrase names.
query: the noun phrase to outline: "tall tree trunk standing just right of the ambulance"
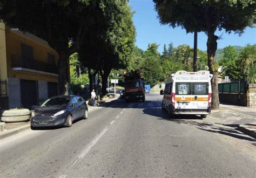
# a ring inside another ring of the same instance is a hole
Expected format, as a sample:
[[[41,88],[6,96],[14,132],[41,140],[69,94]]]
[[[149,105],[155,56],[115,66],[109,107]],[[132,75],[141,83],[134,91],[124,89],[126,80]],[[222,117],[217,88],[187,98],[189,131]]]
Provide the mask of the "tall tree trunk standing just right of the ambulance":
[[[217,39],[218,36],[214,35],[214,32],[207,33],[207,58],[208,67],[210,73],[213,74],[211,80],[212,84],[212,109],[219,109],[219,91],[218,91],[218,65],[215,59],[215,52],[217,50]]]

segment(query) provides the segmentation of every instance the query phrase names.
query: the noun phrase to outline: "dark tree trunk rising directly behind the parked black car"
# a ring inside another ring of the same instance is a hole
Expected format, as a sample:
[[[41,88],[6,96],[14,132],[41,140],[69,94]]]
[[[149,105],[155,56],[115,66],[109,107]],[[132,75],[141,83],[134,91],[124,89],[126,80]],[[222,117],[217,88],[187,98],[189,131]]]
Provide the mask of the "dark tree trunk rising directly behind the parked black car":
[[[68,95],[68,84],[69,84],[68,60],[69,60],[68,54],[59,53],[59,60],[58,60],[58,70],[59,70],[58,94],[59,95]]]

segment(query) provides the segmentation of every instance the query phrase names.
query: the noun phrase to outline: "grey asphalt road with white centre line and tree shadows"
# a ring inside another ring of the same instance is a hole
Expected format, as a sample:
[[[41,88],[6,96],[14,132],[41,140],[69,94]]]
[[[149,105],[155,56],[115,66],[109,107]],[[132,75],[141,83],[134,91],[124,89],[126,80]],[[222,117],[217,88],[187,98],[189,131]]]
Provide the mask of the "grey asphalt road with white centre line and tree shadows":
[[[0,177],[256,176],[255,139],[211,117],[169,119],[160,104],[158,93],[145,102],[118,99],[70,128],[1,140]]]

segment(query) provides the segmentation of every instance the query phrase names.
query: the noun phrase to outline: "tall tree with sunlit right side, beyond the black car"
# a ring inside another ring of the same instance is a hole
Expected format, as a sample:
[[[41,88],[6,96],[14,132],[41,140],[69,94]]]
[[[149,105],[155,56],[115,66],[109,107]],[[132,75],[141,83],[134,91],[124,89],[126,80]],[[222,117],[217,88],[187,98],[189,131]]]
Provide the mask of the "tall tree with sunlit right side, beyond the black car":
[[[107,77],[112,69],[129,64],[134,42],[133,13],[127,1],[96,1],[98,8],[79,50],[80,59],[102,77],[102,94],[106,94]]]

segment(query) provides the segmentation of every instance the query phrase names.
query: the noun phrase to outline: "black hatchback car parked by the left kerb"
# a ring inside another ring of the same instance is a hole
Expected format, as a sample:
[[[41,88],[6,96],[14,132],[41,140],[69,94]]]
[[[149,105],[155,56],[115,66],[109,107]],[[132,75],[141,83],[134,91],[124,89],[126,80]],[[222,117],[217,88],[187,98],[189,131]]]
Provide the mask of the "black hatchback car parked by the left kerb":
[[[46,100],[31,114],[33,127],[71,127],[73,120],[88,118],[85,100],[77,95],[62,95]]]

